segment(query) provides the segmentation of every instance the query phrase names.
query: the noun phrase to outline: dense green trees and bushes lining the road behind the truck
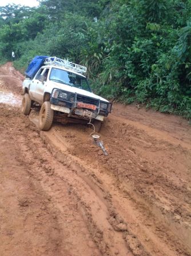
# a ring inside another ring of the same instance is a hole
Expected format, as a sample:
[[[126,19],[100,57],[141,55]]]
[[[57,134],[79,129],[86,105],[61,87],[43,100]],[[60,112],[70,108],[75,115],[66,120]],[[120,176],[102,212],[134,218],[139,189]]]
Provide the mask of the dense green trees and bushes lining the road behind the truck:
[[[0,58],[87,66],[94,91],[191,119],[190,0],[41,0],[0,7]]]

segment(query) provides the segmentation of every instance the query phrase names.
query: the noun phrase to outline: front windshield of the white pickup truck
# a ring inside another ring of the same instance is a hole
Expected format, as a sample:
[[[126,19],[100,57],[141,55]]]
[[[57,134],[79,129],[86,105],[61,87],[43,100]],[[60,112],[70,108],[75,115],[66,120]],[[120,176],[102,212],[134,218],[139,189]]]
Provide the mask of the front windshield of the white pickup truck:
[[[52,68],[49,79],[51,81],[60,82],[61,84],[74,86],[76,88],[91,92],[90,86],[85,77],[66,70]]]

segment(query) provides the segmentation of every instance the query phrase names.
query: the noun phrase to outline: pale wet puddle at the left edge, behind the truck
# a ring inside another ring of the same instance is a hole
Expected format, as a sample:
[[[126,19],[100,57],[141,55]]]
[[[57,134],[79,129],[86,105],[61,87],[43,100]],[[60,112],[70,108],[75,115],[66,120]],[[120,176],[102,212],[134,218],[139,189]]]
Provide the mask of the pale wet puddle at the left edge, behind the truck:
[[[0,103],[20,106],[21,101],[21,96],[15,96],[13,93],[0,90]]]

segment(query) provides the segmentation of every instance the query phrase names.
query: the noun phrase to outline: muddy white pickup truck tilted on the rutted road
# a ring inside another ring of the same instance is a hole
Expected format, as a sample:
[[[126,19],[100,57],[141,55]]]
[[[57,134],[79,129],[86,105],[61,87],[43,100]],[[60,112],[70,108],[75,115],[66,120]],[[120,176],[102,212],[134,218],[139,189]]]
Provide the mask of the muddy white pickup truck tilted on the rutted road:
[[[30,64],[34,69],[35,61]],[[85,72],[84,66],[73,62],[57,57],[44,58],[37,72],[26,72],[21,112],[29,115],[31,108],[40,105],[39,128],[43,131],[50,129],[54,117],[62,118],[65,123],[92,121],[98,131],[104,117],[111,112],[112,103],[91,92],[87,78],[82,74]]]

